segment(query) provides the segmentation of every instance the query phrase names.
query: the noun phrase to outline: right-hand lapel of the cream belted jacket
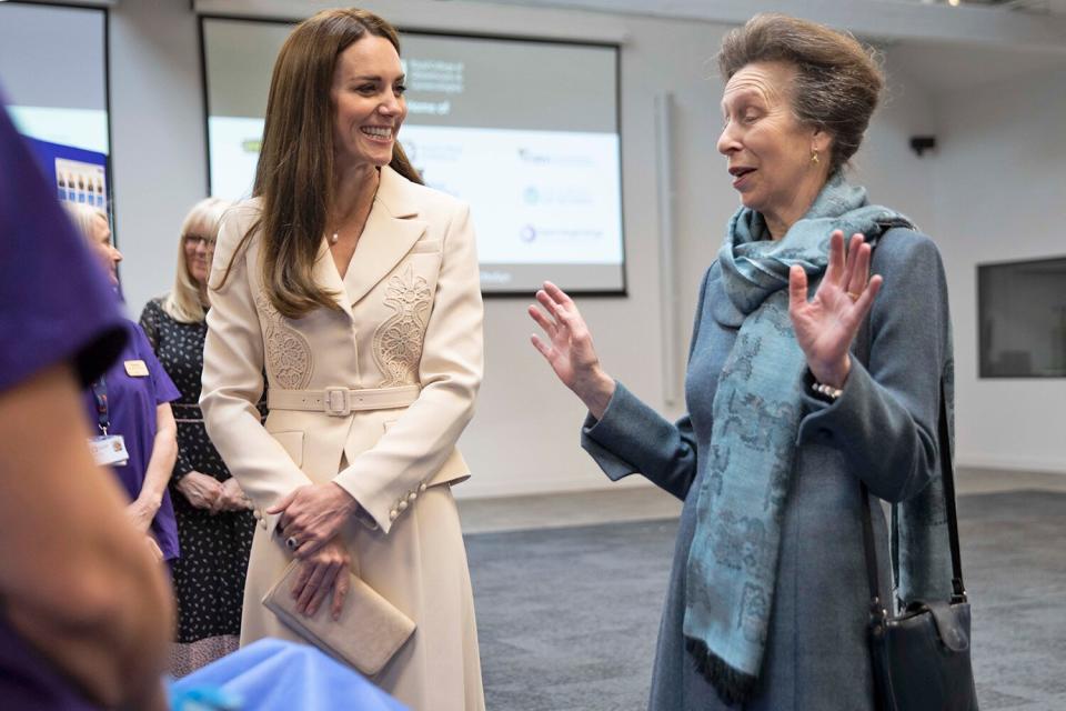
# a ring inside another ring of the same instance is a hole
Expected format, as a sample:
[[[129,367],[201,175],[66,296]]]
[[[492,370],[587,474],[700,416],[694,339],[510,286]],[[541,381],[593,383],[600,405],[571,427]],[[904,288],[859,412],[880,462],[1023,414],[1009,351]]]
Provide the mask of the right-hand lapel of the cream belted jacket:
[[[416,219],[418,214],[408,181],[388,166],[382,168],[374,204],[344,276],[349,311],[392,271],[425,232],[426,223]],[[329,266],[339,280],[332,261]]]

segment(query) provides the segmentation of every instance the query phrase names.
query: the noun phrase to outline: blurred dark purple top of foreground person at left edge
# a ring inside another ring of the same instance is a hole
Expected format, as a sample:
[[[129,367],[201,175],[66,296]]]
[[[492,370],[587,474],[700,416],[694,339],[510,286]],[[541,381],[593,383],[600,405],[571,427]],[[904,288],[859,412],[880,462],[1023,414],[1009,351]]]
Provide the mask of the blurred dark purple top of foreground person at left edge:
[[[95,378],[125,339],[119,304],[11,126],[2,96],[0,253],[0,392],[60,362],[83,383]],[[4,709],[97,708],[14,632],[2,607],[0,700]]]

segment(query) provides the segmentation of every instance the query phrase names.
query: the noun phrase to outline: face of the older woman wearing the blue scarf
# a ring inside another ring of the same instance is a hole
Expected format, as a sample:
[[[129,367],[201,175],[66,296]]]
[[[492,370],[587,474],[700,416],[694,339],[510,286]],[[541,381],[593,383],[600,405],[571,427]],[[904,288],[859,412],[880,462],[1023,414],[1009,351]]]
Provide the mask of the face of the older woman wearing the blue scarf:
[[[767,223],[785,226],[806,213],[829,162],[826,133],[803,126],[792,111],[795,71],[785,62],[755,62],[733,74],[722,97],[725,128],[718,137],[741,202]],[[818,163],[812,162],[815,150]]]

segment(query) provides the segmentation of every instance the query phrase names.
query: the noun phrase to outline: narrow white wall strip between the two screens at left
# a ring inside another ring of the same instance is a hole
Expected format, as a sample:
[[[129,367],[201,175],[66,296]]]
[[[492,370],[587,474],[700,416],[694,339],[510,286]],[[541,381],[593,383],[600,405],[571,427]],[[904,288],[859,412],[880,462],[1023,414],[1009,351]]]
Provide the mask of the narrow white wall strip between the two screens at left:
[[[114,232],[135,320],[173,284],[181,222],[205,197],[198,20],[173,0],[123,2],[109,14]]]

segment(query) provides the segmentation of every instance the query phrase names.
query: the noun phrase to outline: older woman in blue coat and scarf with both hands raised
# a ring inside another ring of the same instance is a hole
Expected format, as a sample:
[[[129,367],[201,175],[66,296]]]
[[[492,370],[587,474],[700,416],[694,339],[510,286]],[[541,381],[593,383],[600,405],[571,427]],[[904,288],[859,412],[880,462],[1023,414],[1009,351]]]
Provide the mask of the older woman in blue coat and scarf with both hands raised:
[[[898,504],[882,599],[949,592],[944,272],[927,237],[844,177],[883,83],[867,50],[766,14],[718,63],[717,148],[742,207],[701,288],[688,413],[668,422],[610,377],[551,283],[533,344],[587,405],[582,443],[604,472],[684,500],[650,708],[873,709],[861,482]]]

